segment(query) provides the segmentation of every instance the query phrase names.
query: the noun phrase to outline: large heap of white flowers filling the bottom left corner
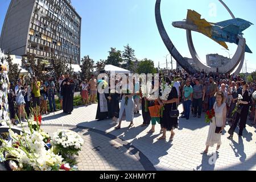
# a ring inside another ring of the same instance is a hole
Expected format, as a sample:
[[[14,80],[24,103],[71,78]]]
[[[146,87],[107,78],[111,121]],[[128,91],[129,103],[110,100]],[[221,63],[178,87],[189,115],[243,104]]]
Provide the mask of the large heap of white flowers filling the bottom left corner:
[[[23,130],[24,131],[24,130]],[[11,169],[16,171],[57,171],[63,164],[63,158],[52,150],[46,150],[44,137],[38,132],[20,135],[9,130],[12,143],[0,139],[1,160],[10,160]],[[5,158],[3,159],[3,155]],[[15,165],[17,164],[17,165]]]

